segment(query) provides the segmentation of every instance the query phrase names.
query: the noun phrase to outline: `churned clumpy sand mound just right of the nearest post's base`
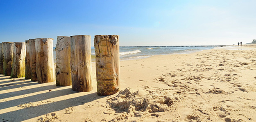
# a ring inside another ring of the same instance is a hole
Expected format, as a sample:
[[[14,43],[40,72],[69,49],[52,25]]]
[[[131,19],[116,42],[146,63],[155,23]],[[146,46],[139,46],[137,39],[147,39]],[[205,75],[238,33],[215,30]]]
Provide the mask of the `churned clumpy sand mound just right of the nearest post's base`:
[[[162,112],[170,110],[170,107],[178,102],[179,98],[165,96],[155,91],[132,91],[127,87],[107,102],[117,113],[140,113],[140,112]],[[139,114],[140,115],[140,114]]]

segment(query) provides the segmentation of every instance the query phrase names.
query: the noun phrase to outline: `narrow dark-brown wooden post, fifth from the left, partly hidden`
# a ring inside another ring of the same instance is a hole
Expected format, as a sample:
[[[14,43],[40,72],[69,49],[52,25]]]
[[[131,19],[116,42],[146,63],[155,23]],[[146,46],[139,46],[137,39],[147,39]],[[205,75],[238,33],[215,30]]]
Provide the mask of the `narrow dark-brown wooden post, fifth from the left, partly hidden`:
[[[36,75],[36,46],[35,39],[29,39],[29,59],[30,59],[30,76],[31,81],[37,81]]]

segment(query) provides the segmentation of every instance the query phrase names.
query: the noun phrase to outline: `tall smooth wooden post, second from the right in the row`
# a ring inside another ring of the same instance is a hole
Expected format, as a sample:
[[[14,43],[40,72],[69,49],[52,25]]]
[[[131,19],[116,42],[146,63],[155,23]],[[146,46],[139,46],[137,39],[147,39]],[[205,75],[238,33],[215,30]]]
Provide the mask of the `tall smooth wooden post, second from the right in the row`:
[[[72,90],[91,91],[91,36],[75,35],[70,38]]]

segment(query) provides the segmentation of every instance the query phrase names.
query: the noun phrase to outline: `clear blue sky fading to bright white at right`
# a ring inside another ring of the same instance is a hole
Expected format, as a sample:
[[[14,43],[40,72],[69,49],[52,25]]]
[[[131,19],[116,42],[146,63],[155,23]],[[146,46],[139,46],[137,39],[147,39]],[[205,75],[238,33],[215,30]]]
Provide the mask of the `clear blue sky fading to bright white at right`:
[[[256,39],[256,0],[0,0],[0,42],[119,35],[120,46]]]

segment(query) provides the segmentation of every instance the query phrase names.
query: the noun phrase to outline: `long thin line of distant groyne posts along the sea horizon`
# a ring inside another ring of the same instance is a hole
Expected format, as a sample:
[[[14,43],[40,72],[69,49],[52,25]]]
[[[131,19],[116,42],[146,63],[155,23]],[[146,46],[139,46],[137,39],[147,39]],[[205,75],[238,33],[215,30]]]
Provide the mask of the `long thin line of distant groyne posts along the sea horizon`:
[[[159,47],[226,47],[226,45],[203,45],[203,46],[120,46],[120,48],[159,48]]]

